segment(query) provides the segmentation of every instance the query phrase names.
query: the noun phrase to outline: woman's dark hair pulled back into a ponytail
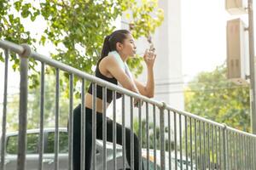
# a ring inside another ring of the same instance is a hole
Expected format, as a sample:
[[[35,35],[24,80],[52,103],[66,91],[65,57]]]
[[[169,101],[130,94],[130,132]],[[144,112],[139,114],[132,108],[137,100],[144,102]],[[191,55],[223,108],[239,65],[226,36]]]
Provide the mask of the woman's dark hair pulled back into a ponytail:
[[[108,56],[109,52],[116,50],[116,43],[123,43],[128,34],[130,34],[130,31],[128,30],[117,30],[105,37],[101,58]]]

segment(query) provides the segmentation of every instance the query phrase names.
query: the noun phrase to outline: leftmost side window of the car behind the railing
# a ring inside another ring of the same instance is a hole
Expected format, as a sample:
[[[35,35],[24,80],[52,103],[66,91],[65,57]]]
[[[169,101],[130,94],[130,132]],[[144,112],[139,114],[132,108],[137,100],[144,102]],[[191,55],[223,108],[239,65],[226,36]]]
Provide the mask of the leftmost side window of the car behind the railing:
[[[28,133],[26,135],[26,154],[38,153],[38,137],[38,133]],[[18,153],[18,135],[8,137],[6,152],[8,154]]]

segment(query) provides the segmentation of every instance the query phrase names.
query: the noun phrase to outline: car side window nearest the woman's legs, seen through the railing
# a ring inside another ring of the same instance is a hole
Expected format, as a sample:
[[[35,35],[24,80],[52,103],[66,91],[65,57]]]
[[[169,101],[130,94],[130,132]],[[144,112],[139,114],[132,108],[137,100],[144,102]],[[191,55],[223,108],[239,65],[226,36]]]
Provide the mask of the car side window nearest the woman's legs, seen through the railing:
[[[47,147],[44,153],[54,153],[55,152],[55,133],[48,133],[47,137]],[[60,132],[59,133],[59,153],[68,152],[68,133]]]

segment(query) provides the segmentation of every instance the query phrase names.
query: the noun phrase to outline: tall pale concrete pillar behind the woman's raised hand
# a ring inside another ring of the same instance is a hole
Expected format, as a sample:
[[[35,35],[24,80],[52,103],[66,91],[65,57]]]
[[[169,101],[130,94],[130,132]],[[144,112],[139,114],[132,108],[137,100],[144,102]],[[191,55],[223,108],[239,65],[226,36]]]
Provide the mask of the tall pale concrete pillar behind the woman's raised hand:
[[[164,9],[165,20],[153,35],[154,47],[157,59],[154,65],[155,96],[154,99],[165,101],[177,110],[184,109],[183,99],[183,74],[182,74],[182,35],[181,35],[181,2],[176,0],[161,0],[159,7]],[[122,21],[129,22],[122,18]],[[122,23],[122,28],[128,29],[127,24]],[[149,48],[146,38],[137,40],[137,53],[143,54]],[[142,82],[147,81],[147,69],[138,77]],[[125,102],[125,124],[130,125],[130,102]],[[121,105],[121,102],[118,102]],[[143,105],[143,117],[145,118],[145,105]],[[109,111],[109,116],[113,111]],[[117,121],[121,122],[121,107],[117,108]],[[137,109],[134,109],[134,117],[137,117]],[[152,119],[152,108],[149,109],[149,119]],[[167,117],[166,117],[167,118]],[[167,119],[166,119],[167,120]],[[159,122],[159,119],[157,119]],[[173,120],[172,120],[173,122]],[[167,122],[166,122],[167,123]],[[166,124],[165,123],[165,124]]]

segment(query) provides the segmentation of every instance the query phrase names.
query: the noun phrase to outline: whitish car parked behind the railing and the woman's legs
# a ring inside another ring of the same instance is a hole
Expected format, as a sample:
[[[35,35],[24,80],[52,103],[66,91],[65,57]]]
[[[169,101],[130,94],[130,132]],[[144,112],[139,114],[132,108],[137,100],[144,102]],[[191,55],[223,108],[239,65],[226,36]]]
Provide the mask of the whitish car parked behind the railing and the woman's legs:
[[[67,170],[68,168],[68,133],[67,127],[59,128],[59,169]],[[26,170],[38,169],[38,142],[39,129],[27,130],[27,144],[26,144]],[[0,140],[1,141],[1,140]],[[17,166],[17,150],[18,150],[18,132],[6,134],[6,153],[5,153],[5,167],[6,170],[14,170]],[[54,165],[54,143],[55,143],[55,128],[44,128],[44,169],[51,170],[55,168]],[[160,150],[157,150],[157,170],[160,170]],[[144,169],[147,164],[147,150],[142,150],[142,159]],[[126,160],[126,159],[125,159]],[[177,160],[179,161],[179,160]],[[168,154],[166,152],[166,169],[168,168]],[[154,150],[149,151],[149,170],[154,169]],[[172,156],[172,169],[174,169],[175,159]],[[116,167],[117,170],[123,169],[122,146],[116,144]],[[125,167],[129,168],[128,162],[125,161]],[[103,143],[102,140],[96,140],[96,169],[103,169]],[[113,169],[113,144],[107,142],[107,169]],[[177,169],[180,169],[179,163]],[[184,170],[183,166],[183,170]]]

